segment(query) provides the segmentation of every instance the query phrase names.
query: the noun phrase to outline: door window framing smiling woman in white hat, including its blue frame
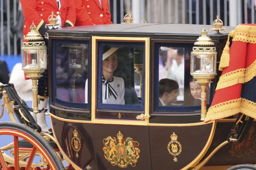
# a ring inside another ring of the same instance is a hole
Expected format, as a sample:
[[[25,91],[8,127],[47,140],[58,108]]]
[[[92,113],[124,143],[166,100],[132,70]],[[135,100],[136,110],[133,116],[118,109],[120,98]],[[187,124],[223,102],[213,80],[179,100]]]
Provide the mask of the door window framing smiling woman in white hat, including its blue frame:
[[[144,43],[99,42],[98,108],[142,110]]]

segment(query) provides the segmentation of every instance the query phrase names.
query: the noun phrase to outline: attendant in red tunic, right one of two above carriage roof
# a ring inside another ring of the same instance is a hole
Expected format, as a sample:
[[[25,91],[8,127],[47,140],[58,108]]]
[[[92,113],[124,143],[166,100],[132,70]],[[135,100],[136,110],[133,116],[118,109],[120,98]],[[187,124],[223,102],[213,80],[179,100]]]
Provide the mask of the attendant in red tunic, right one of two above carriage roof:
[[[75,0],[75,26],[113,24],[108,0]]]

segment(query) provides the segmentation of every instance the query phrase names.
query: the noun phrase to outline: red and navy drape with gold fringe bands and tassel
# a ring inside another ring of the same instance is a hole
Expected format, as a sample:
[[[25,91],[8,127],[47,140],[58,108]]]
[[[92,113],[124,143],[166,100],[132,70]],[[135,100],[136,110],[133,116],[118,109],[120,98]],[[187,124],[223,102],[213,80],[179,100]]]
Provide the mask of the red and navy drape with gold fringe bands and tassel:
[[[237,113],[256,118],[256,24],[241,24],[229,33],[233,37],[223,50],[222,75],[205,121]]]

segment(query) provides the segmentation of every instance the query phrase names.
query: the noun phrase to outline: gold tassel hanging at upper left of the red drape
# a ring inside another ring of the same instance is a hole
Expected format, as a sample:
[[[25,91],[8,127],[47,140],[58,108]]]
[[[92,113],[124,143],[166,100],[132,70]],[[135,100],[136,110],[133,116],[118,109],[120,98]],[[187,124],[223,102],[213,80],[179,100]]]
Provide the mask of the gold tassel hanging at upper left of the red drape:
[[[229,36],[233,37],[235,31],[230,31]],[[221,55],[221,61],[219,62],[219,71],[223,71],[224,68],[229,66],[229,36],[227,37],[226,45]]]

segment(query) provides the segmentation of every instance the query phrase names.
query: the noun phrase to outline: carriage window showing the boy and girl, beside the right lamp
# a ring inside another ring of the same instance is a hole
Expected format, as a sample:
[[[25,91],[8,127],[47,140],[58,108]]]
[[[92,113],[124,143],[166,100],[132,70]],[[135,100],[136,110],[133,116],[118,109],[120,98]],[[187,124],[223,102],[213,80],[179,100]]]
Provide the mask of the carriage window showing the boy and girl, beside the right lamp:
[[[156,43],[154,48],[155,111],[200,110],[201,86],[190,76],[193,44]],[[207,88],[209,107],[210,85]]]

